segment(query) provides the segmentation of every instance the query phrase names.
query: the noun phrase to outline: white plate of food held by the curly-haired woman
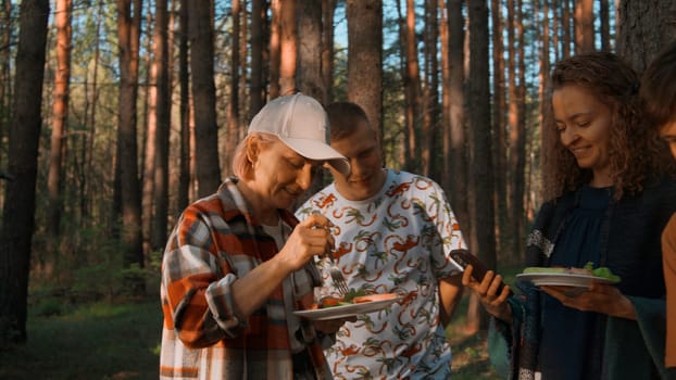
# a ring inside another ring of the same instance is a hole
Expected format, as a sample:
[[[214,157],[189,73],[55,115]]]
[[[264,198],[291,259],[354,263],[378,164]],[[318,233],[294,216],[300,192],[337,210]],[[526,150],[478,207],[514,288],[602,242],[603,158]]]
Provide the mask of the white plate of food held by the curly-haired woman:
[[[536,287],[556,286],[590,288],[593,282],[617,283],[619,278],[615,275],[597,276],[593,271],[584,268],[548,268],[530,267],[524,269],[523,274],[516,275],[522,281],[533,282]]]

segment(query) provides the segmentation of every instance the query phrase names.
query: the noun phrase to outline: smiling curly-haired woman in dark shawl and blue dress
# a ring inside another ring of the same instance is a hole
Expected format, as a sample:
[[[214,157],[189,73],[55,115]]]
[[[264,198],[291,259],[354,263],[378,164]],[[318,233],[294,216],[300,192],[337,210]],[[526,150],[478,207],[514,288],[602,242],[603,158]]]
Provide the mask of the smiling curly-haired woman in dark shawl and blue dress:
[[[463,283],[496,319],[491,340],[509,350],[518,379],[660,379],[665,287],[660,235],[676,211],[668,150],[646,122],[638,77],[615,54],[593,52],[552,72],[555,130],[543,147],[546,202],[528,237],[526,266],[609,267],[615,284],[517,283],[500,276]],[[495,351],[493,351],[495,352]],[[497,357],[492,357],[496,359]],[[630,363],[630,364],[629,364]],[[503,363],[506,365],[506,363]]]

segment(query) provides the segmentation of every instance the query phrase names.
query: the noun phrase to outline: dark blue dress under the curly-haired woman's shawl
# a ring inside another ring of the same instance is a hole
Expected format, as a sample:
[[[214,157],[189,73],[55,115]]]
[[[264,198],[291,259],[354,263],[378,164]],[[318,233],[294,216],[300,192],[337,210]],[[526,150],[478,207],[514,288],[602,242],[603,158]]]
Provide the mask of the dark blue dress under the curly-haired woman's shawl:
[[[550,266],[599,266],[600,237],[612,189],[584,186],[579,203],[555,241]],[[547,380],[599,379],[602,340],[590,339],[603,331],[601,315],[564,306],[542,293],[539,370]]]

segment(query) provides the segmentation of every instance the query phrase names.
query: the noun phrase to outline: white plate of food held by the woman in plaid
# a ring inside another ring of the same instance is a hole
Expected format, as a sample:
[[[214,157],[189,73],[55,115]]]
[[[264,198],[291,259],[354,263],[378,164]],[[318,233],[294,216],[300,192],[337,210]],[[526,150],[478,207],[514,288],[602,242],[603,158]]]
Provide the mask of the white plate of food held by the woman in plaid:
[[[293,314],[311,320],[347,318],[381,311],[401,300],[402,296],[397,293],[368,294],[354,297],[354,303],[338,303],[336,306],[296,311]]]

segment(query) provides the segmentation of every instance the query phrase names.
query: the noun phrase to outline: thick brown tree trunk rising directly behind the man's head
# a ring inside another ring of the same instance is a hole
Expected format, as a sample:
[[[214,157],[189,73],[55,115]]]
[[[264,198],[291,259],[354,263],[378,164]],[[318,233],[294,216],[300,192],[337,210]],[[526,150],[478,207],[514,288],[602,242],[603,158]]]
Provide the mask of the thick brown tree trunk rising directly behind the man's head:
[[[348,0],[347,16],[348,100],[383,138],[383,1]]]

